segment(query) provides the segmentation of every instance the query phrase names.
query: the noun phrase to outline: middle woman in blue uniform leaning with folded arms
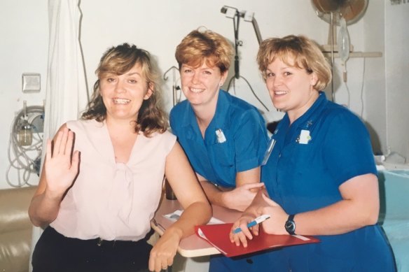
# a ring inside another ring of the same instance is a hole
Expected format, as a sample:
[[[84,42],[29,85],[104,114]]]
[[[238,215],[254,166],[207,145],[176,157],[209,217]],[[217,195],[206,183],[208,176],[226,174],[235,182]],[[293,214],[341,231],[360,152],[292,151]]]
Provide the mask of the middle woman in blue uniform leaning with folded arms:
[[[172,132],[212,204],[244,210],[254,199],[268,136],[265,121],[249,103],[220,90],[233,48],[213,31],[191,31],[176,48],[186,100],[170,113]],[[261,271],[249,257],[216,256],[210,271]]]

